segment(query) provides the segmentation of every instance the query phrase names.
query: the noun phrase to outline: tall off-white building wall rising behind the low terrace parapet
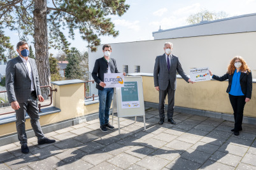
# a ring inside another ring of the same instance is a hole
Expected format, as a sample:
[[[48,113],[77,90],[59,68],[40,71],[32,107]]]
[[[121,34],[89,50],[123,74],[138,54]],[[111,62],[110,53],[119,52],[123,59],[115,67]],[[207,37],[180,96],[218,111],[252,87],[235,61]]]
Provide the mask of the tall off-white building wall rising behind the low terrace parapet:
[[[128,65],[129,73],[134,65],[140,65],[141,72],[153,73],[155,57],[164,54],[164,42],[173,42],[173,54],[180,59],[183,70],[189,74],[194,67],[210,67],[217,75],[227,71],[227,65],[236,55],[243,56],[252,70],[256,70],[256,32],[222,34],[213,36],[183,37],[152,41],[124,42],[111,44],[112,58],[117,60],[118,70]],[[102,46],[97,52],[89,50],[89,71],[92,72],[95,60],[103,56]],[[256,78],[256,74],[253,74]]]

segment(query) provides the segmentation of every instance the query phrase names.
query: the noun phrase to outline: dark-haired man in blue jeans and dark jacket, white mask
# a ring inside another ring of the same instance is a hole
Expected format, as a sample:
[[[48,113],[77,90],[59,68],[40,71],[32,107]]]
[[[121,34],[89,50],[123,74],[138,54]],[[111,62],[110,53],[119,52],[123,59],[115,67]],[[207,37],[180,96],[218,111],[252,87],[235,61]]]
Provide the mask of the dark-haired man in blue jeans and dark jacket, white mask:
[[[96,82],[96,88],[99,95],[99,123],[100,129],[103,132],[108,132],[108,129],[115,129],[109,123],[110,117],[110,105],[114,93],[114,88],[104,88],[104,73],[118,73],[117,63],[115,59],[110,58],[112,48],[110,44],[103,46],[104,56],[97,59],[92,70],[92,77]],[[125,75],[125,73],[124,73]]]

